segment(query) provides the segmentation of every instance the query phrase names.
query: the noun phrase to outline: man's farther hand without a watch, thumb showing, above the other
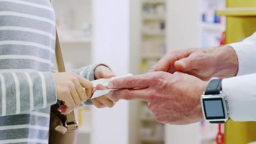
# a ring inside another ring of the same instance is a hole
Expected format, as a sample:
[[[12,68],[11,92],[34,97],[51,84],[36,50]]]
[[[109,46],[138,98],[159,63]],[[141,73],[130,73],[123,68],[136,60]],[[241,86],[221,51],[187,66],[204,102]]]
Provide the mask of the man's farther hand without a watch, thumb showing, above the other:
[[[215,49],[182,49],[168,52],[149,72],[184,72],[202,80],[233,77],[238,72],[238,59],[230,46]]]

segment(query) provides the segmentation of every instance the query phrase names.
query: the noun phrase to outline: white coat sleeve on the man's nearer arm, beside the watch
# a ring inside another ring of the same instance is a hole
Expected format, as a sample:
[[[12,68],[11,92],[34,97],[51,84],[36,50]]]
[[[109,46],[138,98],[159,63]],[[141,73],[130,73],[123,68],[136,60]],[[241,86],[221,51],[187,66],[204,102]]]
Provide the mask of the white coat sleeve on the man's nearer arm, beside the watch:
[[[256,121],[256,73],[222,81],[230,118],[234,121]]]

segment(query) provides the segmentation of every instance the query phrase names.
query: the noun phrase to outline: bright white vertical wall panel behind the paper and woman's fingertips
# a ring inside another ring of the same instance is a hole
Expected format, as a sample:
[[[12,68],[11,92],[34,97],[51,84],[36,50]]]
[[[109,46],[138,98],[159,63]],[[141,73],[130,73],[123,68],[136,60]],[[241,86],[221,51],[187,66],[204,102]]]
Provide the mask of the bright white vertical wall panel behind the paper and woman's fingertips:
[[[93,0],[93,59],[118,75],[129,71],[129,0]],[[128,144],[128,101],[92,108],[91,144]]]

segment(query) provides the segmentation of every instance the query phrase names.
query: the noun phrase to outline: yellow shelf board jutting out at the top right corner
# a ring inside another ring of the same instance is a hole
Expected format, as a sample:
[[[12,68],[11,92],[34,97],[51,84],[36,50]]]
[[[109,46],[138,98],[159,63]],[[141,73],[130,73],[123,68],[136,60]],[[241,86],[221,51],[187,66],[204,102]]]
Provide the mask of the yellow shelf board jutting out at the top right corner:
[[[256,16],[256,7],[237,7],[217,10],[217,15],[223,16]]]

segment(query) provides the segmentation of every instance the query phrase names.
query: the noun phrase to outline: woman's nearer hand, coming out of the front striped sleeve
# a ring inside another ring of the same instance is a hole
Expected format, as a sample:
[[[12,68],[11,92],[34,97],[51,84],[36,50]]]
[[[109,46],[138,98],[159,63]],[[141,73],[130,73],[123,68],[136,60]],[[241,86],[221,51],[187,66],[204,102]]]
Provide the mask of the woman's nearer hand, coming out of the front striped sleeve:
[[[82,102],[91,98],[92,82],[87,79],[73,72],[53,73],[53,77],[56,83],[57,99],[66,104],[59,108],[62,114],[69,114]]]

